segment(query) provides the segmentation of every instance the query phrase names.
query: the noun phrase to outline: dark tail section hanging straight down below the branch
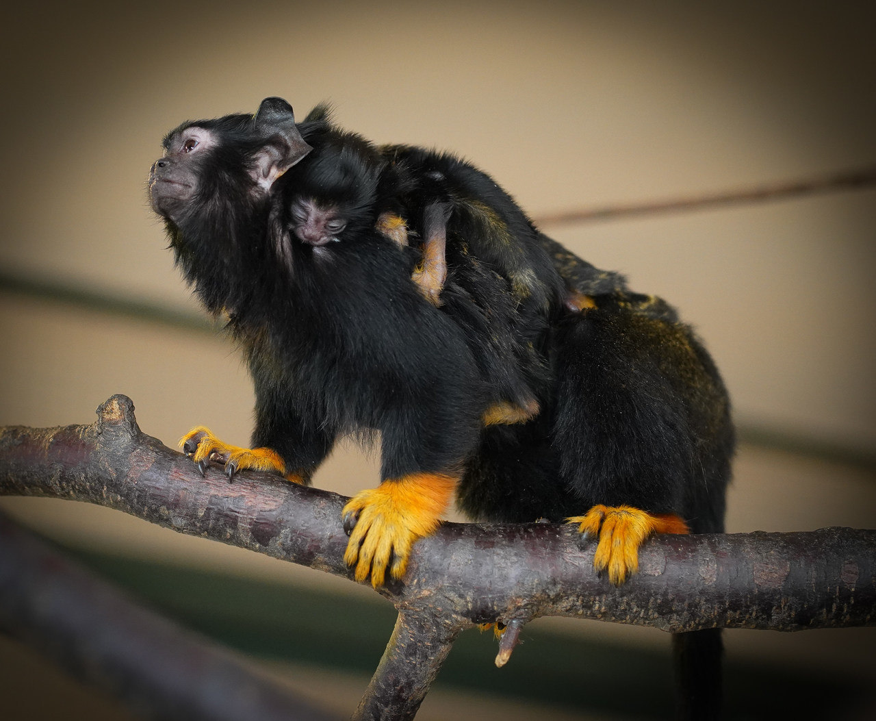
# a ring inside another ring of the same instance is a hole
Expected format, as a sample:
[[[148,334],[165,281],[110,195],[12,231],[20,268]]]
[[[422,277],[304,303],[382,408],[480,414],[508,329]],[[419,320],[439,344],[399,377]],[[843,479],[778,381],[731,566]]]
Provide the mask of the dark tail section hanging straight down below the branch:
[[[680,721],[721,718],[721,629],[672,634],[676,717]]]

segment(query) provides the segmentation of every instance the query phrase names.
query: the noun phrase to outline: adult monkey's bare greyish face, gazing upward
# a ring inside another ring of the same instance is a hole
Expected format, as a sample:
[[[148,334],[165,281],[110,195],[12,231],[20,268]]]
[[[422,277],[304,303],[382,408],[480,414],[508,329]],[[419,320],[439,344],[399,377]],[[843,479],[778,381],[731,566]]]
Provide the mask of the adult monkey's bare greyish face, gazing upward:
[[[165,139],[164,155],[149,171],[149,199],[159,216],[179,221],[198,191],[204,159],[215,145],[215,133],[197,125],[180,128]]]

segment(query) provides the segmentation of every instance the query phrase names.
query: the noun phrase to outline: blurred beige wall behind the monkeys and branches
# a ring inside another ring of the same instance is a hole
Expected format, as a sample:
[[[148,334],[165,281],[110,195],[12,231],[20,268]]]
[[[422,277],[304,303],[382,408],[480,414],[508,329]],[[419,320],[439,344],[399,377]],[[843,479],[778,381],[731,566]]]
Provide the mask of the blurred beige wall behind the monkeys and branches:
[[[19,288],[198,314],[145,194],[161,138],[183,120],[253,111],[266,95],[303,117],[328,99],[377,142],[471,159],[537,218],[872,166],[874,27],[874,6],[826,1],[31,4],[0,43],[0,424],[88,423],[124,392],[169,445],[195,423],[247,441],[251,384],[221,336]],[[838,452],[743,445],[729,531],[876,527],[873,464],[849,462],[872,459],[876,441],[876,189],[545,230],[680,307],[745,428]],[[317,484],[350,494],[377,482],[375,468],[344,448]],[[74,546],[370,593],[102,508],[0,507]],[[726,636],[734,659],[876,680],[872,629]],[[310,692],[341,703],[361,691],[327,679]],[[422,717],[447,713],[436,708]]]

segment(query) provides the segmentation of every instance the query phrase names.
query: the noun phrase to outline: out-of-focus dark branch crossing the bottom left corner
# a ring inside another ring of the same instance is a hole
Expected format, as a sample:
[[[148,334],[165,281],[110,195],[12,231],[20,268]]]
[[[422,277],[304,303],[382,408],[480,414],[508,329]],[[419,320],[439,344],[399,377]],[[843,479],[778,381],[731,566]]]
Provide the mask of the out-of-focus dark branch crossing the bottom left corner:
[[[146,611],[2,513],[0,629],[148,718],[330,718],[218,644]]]

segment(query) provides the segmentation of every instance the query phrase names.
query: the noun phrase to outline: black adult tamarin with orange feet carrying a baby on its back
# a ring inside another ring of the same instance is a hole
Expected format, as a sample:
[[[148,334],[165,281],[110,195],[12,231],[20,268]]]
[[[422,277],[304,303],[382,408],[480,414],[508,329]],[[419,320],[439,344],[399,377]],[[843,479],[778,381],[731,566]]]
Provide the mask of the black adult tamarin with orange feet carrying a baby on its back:
[[[343,512],[358,580],[403,576],[455,494],[476,520],[575,523],[611,583],[650,534],[723,531],[733,430],[702,344],[665,302],[541,236],[489,176],[374,147],[324,110],[296,125],[279,98],[164,147],[152,207],[229,317],[257,399],[251,448],[195,428],[184,449],[201,470],[309,483],[338,436],[379,431],[383,480]],[[436,232],[446,269],[424,282]],[[719,632],[675,646],[682,714],[716,716]]]

